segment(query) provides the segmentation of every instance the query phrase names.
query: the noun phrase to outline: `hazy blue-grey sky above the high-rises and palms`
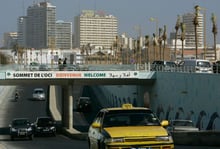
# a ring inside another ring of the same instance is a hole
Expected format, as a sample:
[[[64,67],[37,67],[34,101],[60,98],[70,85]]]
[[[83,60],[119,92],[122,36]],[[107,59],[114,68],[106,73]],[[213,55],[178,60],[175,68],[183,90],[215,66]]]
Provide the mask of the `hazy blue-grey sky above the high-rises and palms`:
[[[3,43],[5,32],[17,31],[17,18],[27,15],[28,6],[45,0],[0,0],[0,46]],[[97,10],[112,14],[118,18],[118,33],[126,33],[136,38],[156,32],[156,22],[150,21],[155,18],[158,27],[167,26],[167,34],[175,31],[178,15],[194,13],[194,6],[204,8],[206,12],[207,44],[213,44],[211,14],[217,17],[217,26],[220,25],[220,0],[47,0],[56,6],[57,20],[73,22],[74,16],[81,10]],[[74,23],[73,23],[74,24]],[[138,31],[137,28],[140,30]],[[218,27],[219,28],[219,27]],[[217,35],[217,43],[219,41]]]

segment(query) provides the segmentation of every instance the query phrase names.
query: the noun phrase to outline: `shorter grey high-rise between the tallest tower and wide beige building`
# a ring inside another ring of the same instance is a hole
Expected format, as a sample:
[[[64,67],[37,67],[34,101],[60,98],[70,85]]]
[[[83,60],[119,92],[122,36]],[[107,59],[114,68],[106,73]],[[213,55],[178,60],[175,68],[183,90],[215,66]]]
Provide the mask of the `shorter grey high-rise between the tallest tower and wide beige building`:
[[[56,22],[56,48],[72,49],[72,22]]]

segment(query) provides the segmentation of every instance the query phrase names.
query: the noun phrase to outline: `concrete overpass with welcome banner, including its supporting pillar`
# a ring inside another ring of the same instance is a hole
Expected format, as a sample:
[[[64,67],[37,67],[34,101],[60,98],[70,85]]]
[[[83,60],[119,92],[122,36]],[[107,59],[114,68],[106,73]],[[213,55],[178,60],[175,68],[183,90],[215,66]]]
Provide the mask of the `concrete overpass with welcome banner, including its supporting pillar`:
[[[1,85],[58,85],[62,88],[62,126],[73,126],[73,90],[83,85],[151,85],[152,71],[5,71],[0,72]],[[50,88],[50,104],[56,101],[56,89]]]

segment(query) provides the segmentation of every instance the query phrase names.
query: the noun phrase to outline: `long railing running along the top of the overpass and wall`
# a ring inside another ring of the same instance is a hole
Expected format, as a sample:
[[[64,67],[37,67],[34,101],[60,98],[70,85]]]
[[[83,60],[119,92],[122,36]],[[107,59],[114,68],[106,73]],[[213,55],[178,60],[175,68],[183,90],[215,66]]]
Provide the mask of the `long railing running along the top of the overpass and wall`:
[[[40,66],[40,65],[39,65]],[[9,64],[9,65],[0,65],[0,72],[14,70],[14,71],[41,71],[39,66],[30,65],[18,65],[18,64]],[[67,65],[60,66],[57,64],[51,65],[47,64],[47,68],[42,69],[42,71],[158,71],[158,72],[183,72],[183,73],[213,73],[213,68],[203,68],[201,71],[198,71],[195,67],[192,66],[163,66],[163,65],[153,65],[150,63],[145,64],[93,64],[93,65]],[[215,69],[214,73],[220,73],[218,67]]]

